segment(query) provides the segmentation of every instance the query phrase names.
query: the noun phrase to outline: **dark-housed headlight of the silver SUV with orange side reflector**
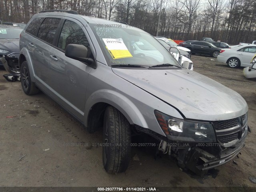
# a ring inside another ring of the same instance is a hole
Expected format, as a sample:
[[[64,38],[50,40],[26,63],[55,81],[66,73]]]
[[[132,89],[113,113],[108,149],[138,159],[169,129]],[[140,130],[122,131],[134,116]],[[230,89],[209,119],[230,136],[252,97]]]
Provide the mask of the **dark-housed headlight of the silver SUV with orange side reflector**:
[[[184,142],[216,142],[212,124],[207,122],[184,121],[157,110],[154,111],[156,120],[170,140]]]

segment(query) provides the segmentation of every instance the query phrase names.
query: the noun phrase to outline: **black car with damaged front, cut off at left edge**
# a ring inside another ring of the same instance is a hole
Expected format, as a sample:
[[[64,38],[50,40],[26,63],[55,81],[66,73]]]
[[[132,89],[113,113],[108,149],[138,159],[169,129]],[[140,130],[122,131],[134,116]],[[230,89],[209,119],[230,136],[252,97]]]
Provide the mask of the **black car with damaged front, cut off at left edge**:
[[[20,28],[0,25],[0,66],[4,66],[9,73],[20,72],[18,58],[21,32]]]

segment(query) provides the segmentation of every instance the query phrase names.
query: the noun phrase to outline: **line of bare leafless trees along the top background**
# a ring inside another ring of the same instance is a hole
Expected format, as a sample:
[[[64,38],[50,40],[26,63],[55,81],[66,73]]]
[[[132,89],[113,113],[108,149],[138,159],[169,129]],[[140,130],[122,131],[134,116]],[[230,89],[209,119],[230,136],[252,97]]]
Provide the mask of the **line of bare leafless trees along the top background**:
[[[0,0],[0,20],[27,23],[49,9],[126,22],[154,36],[161,14],[158,36],[174,40],[256,40],[256,0]]]

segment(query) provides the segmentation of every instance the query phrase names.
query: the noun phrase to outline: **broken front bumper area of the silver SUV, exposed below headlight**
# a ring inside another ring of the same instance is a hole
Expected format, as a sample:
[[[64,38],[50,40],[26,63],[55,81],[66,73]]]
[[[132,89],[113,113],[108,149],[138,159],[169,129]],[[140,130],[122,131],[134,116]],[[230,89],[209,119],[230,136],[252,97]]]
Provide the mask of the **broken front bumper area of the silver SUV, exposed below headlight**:
[[[203,176],[208,170],[223,165],[238,156],[244,146],[246,136],[250,132],[250,128],[246,124],[241,126],[240,132],[236,132],[241,136],[231,142],[195,143],[170,140],[168,137],[138,126],[136,129],[160,140],[156,153],[162,151],[164,154],[173,156],[178,160],[178,165],[181,168],[188,169],[199,176]]]

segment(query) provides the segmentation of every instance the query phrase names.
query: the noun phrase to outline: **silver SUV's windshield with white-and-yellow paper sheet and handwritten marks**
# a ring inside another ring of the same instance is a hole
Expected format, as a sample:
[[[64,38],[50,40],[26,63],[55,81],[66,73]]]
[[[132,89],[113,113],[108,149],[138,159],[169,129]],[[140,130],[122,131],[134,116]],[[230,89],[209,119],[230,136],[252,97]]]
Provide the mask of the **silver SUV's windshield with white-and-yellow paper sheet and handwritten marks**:
[[[180,67],[170,52],[143,30],[124,24],[89,25],[98,40],[108,66],[171,64]]]

